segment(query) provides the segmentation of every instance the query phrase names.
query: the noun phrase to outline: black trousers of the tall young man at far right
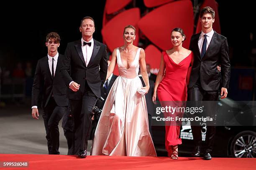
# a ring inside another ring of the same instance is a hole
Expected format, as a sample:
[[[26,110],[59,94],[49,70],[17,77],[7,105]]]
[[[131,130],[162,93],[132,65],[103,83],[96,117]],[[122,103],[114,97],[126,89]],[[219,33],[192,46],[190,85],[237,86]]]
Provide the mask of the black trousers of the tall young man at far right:
[[[218,90],[206,91],[203,90],[200,85],[200,80],[192,87],[188,89],[188,101],[195,101],[194,107],[201,107],[202,103],[204,105],[203,115],[194,114],[193,116],[209,116],[215,120],[216,110],[217,110],[217,100],[219,96]],[[197,101],[207,101],[207,102],[197,102]],[[209,102],[212,101],[212,102]],[[216,102],[214,102],[216,101]],[[198,124],[197,124],[198,123]],[[195,145],[202,145],[202,126],[200,122],[194,122],[191,126],[193,138]],[[206,135],[205,135],[205,152],[210,153],[214,145],[215,131],[216,127],[214,125],[206,126]]]

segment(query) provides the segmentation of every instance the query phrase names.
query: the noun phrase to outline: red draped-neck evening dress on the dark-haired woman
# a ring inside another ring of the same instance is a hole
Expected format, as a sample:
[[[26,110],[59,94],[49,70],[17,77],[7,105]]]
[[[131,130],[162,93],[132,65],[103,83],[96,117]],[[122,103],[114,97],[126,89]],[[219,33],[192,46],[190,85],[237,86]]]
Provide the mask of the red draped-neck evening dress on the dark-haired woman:
[[[191,61],[193,59],[193,53],[191,52],[178,64],[175,63],[171,57],[163,52],[163,58],[165,63],[166,74],[161,80],[157,94],[161,107],[166,105],[184,107],[184,103],[187,101],[187,77],[191,72]],[[174,114],[175,115],[175,114]],[[171,116],[170,113],[164,113],[164,116]],[[165,126],[165,148],[168,152],[172,152],[171,146],[182,144],[182,140],[179,138],[180,125],[176,125],[176,122],[166,123]]]

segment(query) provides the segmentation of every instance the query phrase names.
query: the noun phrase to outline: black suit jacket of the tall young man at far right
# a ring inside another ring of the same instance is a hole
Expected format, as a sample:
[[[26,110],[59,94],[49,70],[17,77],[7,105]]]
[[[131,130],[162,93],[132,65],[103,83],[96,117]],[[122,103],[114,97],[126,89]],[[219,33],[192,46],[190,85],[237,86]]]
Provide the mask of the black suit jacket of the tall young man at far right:
[[[230,79],[230,62],[227,38],[214,32],[205,56],[201,59],[198,47],[200,33],[192,35],[189,49],[194,52],[194,64],[190,74],[189,88],[200,78],[204,90],[219,90],[228,88]],[[221,72],[217,70],[221,65]]]

